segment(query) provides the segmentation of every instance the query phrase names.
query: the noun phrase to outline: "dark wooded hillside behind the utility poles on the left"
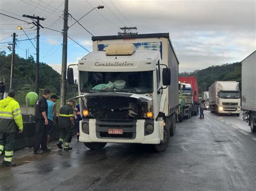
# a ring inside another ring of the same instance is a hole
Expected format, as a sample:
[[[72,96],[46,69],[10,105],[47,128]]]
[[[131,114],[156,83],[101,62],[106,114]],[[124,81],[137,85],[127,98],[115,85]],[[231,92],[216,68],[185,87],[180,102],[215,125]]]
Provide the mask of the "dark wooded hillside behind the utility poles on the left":
[[[11,54],[0,52],[0,80],[5,82],[5,90],[8,91],[10,87],[11,74]],[[21,58],[15,55],[14,62],[14,78],[12,87],[16,90],[16,100],[20,104],[25,104],[25,95],[29,91],[35,91],[35,72],[36,62],[33,56],[28,59]],[[59,95],[60,90],[60,74],[52,69],[46,63],[39,63],[39,89],[42,95],[43,89],[50,89],[52,93]]]

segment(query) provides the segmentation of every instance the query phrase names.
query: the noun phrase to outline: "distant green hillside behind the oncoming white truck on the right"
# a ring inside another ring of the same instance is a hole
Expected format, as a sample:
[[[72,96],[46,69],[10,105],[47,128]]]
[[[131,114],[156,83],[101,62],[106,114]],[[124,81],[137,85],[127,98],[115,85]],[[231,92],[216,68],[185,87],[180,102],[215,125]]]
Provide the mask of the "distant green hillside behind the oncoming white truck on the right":
[[[215,81],[238,81],[241,90],[241,62],[211,66],[191,73],[184,72],[179,76],[196,76],[199,94],[208,91],[208,87]]]

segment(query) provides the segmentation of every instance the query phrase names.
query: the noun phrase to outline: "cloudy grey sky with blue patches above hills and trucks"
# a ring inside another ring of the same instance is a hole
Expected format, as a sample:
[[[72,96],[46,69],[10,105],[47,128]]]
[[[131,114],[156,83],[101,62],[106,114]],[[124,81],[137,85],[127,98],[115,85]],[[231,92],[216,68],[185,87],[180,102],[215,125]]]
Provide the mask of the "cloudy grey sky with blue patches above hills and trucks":
[[[80,23],[94,36],[116,35],[118,27],[138,27],[139,34],[169,32],[180,61],[180,72],[192,72],[212,65],[241,61],[255,50],[256,1],[142,1],[142,0],[70,0],[69,13],[79,19],[92,7],[93,10]],[[91,6],[91,5],[92,6]],[[115,7],[116,6],[116,7]],[[117,9],[124,15],[122,15]],[[22,17],[33,15],[46,18],[43,26],[62,30],[64,0],[1,0],[0,12],[30,22]],[[112,12],[111,12],[112,11]],[[101,15],[100,15],[101,14]],[[69,18],[69,26],[74,20]],[[11,41],[16,32],[18,40],[36,36],[33,25],[0,15],[0,43]],[[75,24],[69,36],[89,51],[92,50],[91,34]],[[62,36],[59,32],[41,30],[40,61],[60,71],[62,62]],[[32,41],[36,45],[35,41]],[[6,44],[0,51],[9,53]],[[16,51],[25,57],[25,50],[35,57],[35,48],[29,41],[18,43]],[[87,52],[82,47],[68,42],[68,63],[77,63]],[[36,57],[35,57],[36,58]]]

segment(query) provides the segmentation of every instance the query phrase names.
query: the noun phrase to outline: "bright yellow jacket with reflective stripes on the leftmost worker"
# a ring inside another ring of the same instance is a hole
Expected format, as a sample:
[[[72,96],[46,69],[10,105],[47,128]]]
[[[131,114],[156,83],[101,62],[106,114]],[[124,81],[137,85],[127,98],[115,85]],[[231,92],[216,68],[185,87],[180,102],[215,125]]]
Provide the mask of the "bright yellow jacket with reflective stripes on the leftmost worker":
[[[12,97],[0,100],[0,132],[16,132],[23,129],[21,108]]]

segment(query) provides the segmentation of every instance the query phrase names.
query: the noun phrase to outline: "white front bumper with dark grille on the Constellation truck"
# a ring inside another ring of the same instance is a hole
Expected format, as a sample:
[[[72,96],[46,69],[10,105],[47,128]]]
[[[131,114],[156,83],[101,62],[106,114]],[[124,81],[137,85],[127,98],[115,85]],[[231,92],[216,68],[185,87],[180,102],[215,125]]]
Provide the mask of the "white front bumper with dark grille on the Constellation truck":
[[[89,124],[89,131],[84,131],[83,124],[85,121],[79,123],[79,142],[103,142],[103,143],[141,143],[141,144],[159,144],[163,140],[163,121],[153,121],[153,131],[146,135],[146,124],[144,119],[138,119],[132,125],[131,122],[99,122],[96,119],[87,119]],[[131,127],[129,128],[129,125]],[[123,135],[112,136],[109,135],[107,129],[123,129]],[[129,134],[130,133],[130,134]]]

